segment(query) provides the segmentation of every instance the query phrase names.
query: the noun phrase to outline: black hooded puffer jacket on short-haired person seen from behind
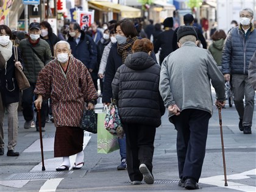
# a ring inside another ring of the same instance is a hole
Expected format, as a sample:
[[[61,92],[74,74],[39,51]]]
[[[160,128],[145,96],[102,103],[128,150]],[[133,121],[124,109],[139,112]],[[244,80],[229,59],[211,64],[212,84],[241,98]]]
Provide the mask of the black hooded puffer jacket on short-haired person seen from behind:
[[[160,69],[146,52],[129,54],[118,68],[112,90],[122,123],[161,125],[165,106],[158,91]]]

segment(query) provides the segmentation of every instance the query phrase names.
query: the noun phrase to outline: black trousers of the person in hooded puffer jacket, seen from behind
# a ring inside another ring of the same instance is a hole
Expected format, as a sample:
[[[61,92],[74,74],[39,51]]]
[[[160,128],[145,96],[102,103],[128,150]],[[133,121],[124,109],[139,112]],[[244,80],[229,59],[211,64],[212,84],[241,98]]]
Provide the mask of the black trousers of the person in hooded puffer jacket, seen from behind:
[[[144,163],[152,173],[155,127],[142,124],[125,124],[126,163],[131,181],[143,180],[139,167]]]

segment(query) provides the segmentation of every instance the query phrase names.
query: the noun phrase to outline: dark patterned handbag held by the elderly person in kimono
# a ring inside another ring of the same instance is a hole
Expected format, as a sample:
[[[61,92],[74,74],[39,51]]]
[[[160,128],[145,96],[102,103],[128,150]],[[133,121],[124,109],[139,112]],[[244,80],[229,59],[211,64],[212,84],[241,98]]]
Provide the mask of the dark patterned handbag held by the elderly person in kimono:
[[[91,133],[97,133],[97,116],[93,110],[84,109],[80,128]]]

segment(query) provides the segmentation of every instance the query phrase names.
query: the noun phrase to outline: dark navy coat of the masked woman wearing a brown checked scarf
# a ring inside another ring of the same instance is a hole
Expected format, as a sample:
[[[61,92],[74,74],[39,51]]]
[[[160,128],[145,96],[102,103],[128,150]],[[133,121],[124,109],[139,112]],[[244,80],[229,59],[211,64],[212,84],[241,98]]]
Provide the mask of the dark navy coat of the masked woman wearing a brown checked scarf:
[[[139,39],[141,37],[138,37]],[[151,57],[157,62],[155,57],[155,53],[152,52]],[[123,60],[121,55],[117,52],[117,43],[114,43],[109,51],[107,65],[105,70],[105,79],[104,79],[104,86],[103,86],[103,93],[102,93],[102,102],[111,102],[112,98],[112,80],[115,77],[115,73],[119,66],[123,64]]]

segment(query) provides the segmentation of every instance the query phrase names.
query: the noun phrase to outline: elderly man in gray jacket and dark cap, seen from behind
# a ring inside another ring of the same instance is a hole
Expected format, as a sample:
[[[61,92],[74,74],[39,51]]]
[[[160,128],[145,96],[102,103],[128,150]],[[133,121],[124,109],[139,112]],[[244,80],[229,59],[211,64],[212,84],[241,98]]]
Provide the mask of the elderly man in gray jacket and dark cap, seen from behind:
[[[197,47],[196,31],[180,26],[179,49],[162,63],[159,90],[169,121],[177,129],[179,186],[199,189],[199,178],[205,157],[208,122],[213,113],[211,83],[218,107],[226,102],[224,77],[206,49]],[[186,54],[186,57],[184,55]]]

